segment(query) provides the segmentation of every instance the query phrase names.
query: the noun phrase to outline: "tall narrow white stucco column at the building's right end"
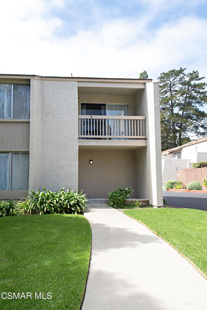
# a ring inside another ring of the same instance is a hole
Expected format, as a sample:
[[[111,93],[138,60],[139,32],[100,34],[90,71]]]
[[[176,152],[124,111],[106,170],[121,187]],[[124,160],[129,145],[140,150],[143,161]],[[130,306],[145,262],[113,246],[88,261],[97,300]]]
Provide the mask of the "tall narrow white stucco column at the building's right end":
[[[146,95],[148,102],[146,119],[148,190],[150,203],[154,206],[163,206],[159,84],[146,83]]]

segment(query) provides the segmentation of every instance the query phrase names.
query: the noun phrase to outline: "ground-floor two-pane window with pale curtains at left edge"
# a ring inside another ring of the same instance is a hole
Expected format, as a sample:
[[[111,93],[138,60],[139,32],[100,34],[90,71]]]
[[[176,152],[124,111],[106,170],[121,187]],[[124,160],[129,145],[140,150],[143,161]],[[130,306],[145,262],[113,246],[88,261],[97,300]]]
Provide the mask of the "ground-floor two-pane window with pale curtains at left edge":
[[[28,190],[28,187],[29,153],[0,153],[0,190]]]

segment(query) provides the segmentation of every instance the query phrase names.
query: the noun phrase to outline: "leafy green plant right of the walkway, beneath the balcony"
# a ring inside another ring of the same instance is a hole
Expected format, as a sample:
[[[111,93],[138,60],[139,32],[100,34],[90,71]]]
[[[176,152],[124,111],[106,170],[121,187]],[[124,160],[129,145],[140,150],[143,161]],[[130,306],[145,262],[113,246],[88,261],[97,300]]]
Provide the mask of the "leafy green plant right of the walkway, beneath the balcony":
[[[133,189],[130,190],[130,187],[118,188],[114,192],[111,191],[108,193],[107,204],[114,208],[121,208],[125,206],[126,200],[130,198]]]

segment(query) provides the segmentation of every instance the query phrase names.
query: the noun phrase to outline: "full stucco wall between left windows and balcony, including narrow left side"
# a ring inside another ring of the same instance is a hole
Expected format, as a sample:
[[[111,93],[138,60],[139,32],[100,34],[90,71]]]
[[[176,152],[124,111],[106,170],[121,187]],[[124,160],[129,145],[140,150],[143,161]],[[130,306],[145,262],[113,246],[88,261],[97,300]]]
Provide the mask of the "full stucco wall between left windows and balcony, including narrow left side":
[[[78,189],[77,82],[31,81],[29,189]]]

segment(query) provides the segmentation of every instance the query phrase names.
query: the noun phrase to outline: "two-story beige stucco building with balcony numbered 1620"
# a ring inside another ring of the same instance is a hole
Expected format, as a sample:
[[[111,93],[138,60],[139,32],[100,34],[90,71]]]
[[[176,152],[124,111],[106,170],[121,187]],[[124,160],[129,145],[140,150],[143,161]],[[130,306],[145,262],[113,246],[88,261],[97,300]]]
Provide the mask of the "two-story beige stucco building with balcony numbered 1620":
[[[43,188],[162,206],[159,85],[151,79],[0,75],[0,199]]]

